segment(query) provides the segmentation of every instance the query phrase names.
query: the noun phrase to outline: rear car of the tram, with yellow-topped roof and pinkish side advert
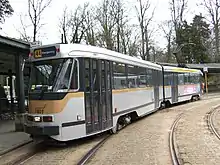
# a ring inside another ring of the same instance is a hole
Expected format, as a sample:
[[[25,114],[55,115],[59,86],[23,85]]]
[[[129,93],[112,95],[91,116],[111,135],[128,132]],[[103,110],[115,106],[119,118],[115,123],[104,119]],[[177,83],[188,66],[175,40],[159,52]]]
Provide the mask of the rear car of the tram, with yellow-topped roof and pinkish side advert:
[[[173,81],[170,81],[170,73]],[[171,104],[200,98],[202,94],[201,76],[203,73],[197,69],[164,66],[165,98]]]

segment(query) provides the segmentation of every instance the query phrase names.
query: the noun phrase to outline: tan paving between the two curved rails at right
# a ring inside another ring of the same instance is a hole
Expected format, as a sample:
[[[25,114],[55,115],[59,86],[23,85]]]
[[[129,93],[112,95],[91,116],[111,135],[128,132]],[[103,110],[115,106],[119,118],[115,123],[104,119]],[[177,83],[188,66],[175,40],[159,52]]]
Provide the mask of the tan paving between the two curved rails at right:
[[[216,98],[203,101],[198,108],[187,111],[180,119],[175,137],[182,164],[220,164],[220,141],[207,126],[207,113],[213,106],[220,105],[219,101]],[[216,125],[220,126],[217,122]]]

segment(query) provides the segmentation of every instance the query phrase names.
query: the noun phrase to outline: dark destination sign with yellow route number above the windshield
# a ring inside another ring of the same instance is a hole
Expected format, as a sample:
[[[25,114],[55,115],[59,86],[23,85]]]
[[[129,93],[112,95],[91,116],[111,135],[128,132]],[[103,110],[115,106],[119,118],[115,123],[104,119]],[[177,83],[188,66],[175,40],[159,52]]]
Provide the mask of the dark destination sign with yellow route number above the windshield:
[[[56,56],[56,47],[47,47],[34,50],[34,58],[45,58]]]

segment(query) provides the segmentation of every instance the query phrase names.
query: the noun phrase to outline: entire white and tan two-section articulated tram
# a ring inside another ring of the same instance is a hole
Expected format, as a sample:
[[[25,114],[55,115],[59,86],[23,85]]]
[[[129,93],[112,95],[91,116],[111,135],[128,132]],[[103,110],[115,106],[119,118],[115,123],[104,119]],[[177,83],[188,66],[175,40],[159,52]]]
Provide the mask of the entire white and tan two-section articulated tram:
[[[117,130],[160,107],[198,99],[202,72],[161,66],[104,48],[31,49],[25,132],[68,141]]]

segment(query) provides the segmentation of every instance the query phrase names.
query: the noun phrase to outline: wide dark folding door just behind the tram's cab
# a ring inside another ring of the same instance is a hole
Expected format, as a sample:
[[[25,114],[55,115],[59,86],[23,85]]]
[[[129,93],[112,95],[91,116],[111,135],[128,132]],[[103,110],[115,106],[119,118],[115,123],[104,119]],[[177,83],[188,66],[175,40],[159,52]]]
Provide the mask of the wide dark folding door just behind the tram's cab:
[[[110,62],[85,60],[86,132],[112,127],[112,90]]]

